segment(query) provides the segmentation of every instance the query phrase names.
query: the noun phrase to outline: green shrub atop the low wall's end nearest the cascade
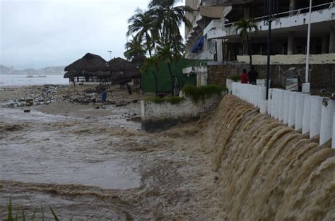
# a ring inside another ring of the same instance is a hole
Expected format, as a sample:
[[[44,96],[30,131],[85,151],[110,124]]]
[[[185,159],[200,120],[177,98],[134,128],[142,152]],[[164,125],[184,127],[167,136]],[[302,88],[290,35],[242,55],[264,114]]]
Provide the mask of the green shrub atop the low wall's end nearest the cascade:
[[[227,89],[221,85],[204,85],[200,87],[185,85],[182,88],[185,95],[191,97],[193,102],[199,102],[199,100],[204,100],[206,97],[211,97],[212,95],[221,95],[223,90]]]

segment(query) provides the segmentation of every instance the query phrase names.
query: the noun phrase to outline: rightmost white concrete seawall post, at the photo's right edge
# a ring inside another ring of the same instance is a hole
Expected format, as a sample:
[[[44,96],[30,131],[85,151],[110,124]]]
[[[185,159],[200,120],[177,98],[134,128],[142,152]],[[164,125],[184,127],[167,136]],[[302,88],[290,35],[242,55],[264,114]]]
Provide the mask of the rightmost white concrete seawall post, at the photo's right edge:
[[[333,136],[334,113],[335,100],[324,98],[321,107],[320,145],[329,141]]]

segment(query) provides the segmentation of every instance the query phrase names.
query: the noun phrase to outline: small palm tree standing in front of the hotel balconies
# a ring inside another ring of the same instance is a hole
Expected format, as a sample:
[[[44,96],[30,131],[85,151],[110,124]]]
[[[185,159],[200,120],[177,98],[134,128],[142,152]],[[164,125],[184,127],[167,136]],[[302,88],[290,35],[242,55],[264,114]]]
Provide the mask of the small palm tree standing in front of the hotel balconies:
[[[252,49],[251,49],[251,42],[249,38],[249,32],[257,31],[258,27],[254,23],[254,20],[249,19],[246,20],[245,18],[242,18],[241,20],[237,21],[235,24],[235,30],[238,32],[240,30],[240,37],[243,44],[243,52],[245,52],[245,42],[247,42],[248,45],[248,54],[250,56],[250,68],[252,66]]]

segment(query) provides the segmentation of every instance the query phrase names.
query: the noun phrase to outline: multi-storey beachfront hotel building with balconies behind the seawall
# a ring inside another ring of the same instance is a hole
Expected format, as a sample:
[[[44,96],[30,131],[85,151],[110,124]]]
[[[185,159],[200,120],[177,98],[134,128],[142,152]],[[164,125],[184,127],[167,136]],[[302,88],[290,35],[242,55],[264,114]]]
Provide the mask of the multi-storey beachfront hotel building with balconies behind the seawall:
[[[249,63],[247,50],[243,49],[247,47],[243,47],[240,32],[234,27],[234,23],[241,18],[254,19],[259,29],[257,32],[251,32],[249,37],[252,42],[253,64],[259,65],[260,72],[264,73],[269,30],[265,16],[266,2],[266,0],[186,0],[185,5],[193,9],[187,13],[192,27],[185,28],[186,56],[189,59],[206,59],[208,62],[206,68],[189,67],[184,69],[184,73],[200,74],[198,80],[200,85],[216,83],[220,79],[208,81],[207,78],[219,78],[219,72],[226,72],[225,78],[228,75],[228,71],[225,70],[227,66],[219,68],[218,65],[239,63],[237,68],[235,65],[235,70],[240,71],[243,64]],[[304,78],[310,1],[273,0],[272,2],[274,21],[271,23],[273,66],[271,75],[273,83],[279,86],[283,76],[286,75],[298,73]],[[311,80],[315,80],[312,86],[334,91],[335,1],[312,0],[310,36],[310,75]],[[213,69],[211,66],[216,66],[217,77],[207,75],[208,68]],[[290,73],[293,69],[295,73]],[[328,83],[322,78],[327,78]],[[221,79],[223,80],[225,79]]]

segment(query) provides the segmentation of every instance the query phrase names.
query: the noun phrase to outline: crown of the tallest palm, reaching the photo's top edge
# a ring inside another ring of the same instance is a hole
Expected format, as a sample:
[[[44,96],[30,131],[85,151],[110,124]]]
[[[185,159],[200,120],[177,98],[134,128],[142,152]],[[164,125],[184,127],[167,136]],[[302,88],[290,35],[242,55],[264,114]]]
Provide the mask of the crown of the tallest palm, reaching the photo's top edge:
[[[187,6],[175,6],[178,0],[151,0],[148,5],[149,10],[156,18],[156,29],[159,30],[161,41],[172,42],[175,49],[182,50],[182,35],[180,35],[180,25],[185,23],[187,27],[191,26],[185,16],[189,11]]]

